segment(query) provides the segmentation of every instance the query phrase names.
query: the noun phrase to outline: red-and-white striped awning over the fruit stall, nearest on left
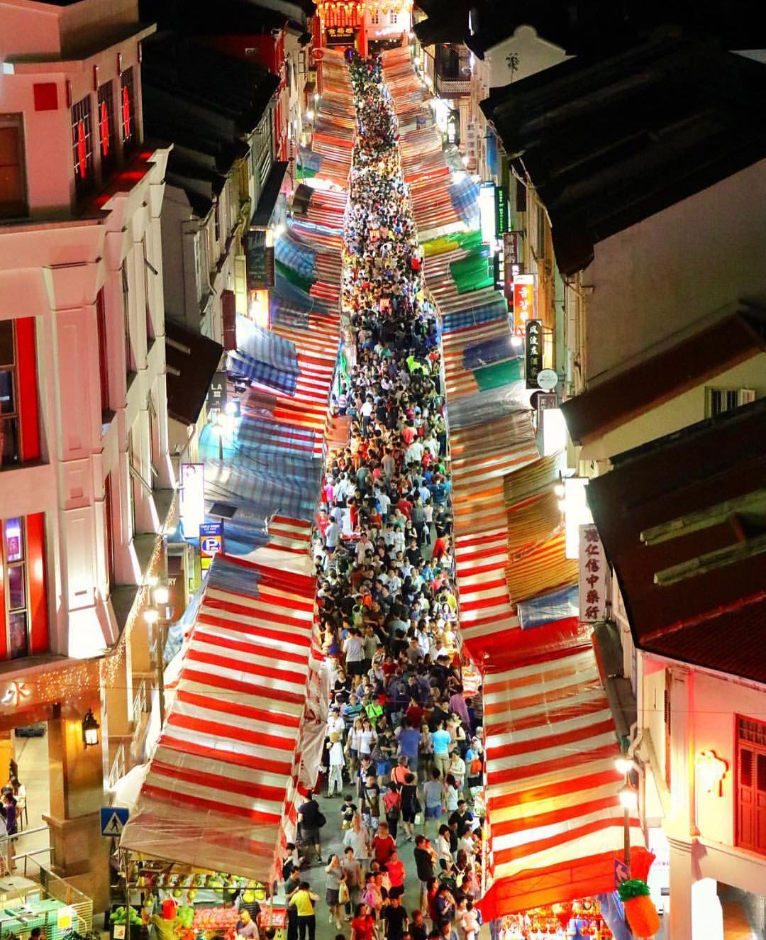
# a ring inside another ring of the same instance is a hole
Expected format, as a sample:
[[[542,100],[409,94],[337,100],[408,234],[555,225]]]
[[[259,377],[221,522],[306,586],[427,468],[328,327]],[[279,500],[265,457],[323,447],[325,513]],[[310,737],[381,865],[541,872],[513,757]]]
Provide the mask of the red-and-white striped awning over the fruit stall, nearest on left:
[[[316,582],[216,557],[123,848],[260,881],[290,824]]]

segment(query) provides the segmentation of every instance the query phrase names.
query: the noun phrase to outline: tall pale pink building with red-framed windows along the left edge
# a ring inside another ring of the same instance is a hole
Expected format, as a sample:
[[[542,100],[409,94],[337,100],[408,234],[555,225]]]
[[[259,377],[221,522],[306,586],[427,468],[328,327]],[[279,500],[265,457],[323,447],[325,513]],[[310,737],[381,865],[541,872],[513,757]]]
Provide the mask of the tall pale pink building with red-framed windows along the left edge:
[[[0,727],[12,757],[12,730],[45,723],[29,824],[98,902],[104,778],[146,728],[143,611],[176,511],[152,31],[131,0],[0,4]]]

